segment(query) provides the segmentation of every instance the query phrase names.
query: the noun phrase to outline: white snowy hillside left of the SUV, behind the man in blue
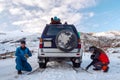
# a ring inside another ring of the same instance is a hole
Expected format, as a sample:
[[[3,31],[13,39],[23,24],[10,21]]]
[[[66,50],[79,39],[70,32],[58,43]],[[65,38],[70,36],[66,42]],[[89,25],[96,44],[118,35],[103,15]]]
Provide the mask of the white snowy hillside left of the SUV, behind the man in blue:
[[[38,37],[40,33],[26,33],[21,31],[7,32],[0,34],[0,54],[15,51],[20,44],[20,40],[26,39],[30,48],[38,47]]]

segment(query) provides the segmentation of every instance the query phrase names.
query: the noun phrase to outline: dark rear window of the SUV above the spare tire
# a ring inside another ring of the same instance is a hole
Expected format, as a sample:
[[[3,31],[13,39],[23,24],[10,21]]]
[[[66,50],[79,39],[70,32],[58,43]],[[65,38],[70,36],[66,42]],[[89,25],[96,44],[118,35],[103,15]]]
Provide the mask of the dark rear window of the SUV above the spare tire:
[[[69,31],[73,31],[73,26],[70,25],[51,25],[48,27],[48,30],[46,32],[46,35],[56,35],[58,34],[60,31],[62,30],[69,30]]]

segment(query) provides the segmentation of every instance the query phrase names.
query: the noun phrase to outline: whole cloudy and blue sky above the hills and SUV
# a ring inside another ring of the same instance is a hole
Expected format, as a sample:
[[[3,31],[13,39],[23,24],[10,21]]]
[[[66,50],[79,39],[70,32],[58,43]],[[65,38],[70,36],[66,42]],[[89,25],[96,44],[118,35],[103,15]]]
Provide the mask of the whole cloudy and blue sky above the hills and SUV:
[[[42,32],[50,18],[81,32],[120,31],[120,0],[0,0],[0,32]]]

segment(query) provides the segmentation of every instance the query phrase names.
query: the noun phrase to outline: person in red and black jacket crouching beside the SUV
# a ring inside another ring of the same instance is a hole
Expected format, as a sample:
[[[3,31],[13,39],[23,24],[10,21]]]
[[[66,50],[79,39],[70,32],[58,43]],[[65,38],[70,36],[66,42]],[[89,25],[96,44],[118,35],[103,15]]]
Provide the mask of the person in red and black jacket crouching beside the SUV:
[[[86,70],[93,65],[95,67],[93,70],[103,70],[103,72],[108,72],[109,58],[105,52],[95,46],[91,46],[89,51],[92,53],[92,62],[86,67]]]

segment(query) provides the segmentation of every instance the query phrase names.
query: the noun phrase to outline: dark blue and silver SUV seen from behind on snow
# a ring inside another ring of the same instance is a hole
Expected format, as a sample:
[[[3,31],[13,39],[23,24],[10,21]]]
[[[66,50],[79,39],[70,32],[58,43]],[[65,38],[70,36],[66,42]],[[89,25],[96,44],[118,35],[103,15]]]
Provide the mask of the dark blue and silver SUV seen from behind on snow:
[[[82,49],[78,32],[74,25],[47,24],[40,38],[38,63],[46,68],[48,61],[72,61],[79,68],[82,62]]]

